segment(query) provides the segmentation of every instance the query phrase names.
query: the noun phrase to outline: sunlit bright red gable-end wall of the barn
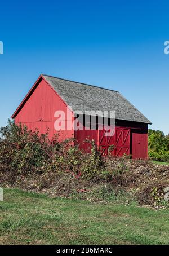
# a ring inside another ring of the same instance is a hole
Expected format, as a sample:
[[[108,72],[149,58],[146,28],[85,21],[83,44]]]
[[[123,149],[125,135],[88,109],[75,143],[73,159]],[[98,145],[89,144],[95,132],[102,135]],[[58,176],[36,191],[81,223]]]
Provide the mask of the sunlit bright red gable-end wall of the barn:
[[[54,114],[57,110],[64,111],[65,119],[67,120],[66,104],[44,79],[40,79],[32,95],[25,100],[23,107],[16,114],[15,123],[21,122],[31,130],[38,128],[39,133],[42,134],[49,129],[49,137],[51,139],[57,133],[54,129],[54,123],[57,119]],[[70,112],[69,109],[68,111]],[[71,138],[74,136],[74,131],[73,129],[60,131],[59,134],[60,139]]]

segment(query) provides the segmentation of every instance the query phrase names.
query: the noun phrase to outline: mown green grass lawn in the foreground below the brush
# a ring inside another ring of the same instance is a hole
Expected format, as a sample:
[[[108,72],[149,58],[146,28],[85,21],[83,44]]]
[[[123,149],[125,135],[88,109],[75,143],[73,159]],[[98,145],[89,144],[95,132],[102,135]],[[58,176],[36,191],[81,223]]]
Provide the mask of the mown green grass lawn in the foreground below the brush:
[[[0,244],[169,244],[169,210],[4,189]]]

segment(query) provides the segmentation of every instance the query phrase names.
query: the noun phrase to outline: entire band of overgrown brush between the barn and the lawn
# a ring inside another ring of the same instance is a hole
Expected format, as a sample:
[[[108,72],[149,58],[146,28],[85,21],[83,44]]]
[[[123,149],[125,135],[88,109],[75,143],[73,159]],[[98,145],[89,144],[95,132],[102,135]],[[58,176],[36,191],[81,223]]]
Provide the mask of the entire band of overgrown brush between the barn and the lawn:
[[[140,205],[167,208],[164,189],[169,166],[130,156],[102,157],[94,141],[91,153],[74,140],[49,140],[48,134],[29,131],[14,122],[0,130],[0,183],[3,187],[47,193],[95,202],[136,201]],[[156,195],[155,195],[156,193]]]

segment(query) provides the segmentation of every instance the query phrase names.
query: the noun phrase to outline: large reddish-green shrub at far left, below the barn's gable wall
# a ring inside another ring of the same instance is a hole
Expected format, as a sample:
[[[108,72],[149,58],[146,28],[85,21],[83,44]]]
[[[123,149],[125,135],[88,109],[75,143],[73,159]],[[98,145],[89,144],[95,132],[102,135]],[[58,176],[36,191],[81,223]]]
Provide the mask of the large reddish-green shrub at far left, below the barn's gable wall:
[[[28,173],[47,171],[64,162],[65,148],[70,147],[70,140],[60,142],[55,135],[51,141],[48,134],[29,131],[26,126],[15,125],[8,121],[8,126],[0,130],[0,165],[3,171]],[[68,151],[66,151],[68,152]]]

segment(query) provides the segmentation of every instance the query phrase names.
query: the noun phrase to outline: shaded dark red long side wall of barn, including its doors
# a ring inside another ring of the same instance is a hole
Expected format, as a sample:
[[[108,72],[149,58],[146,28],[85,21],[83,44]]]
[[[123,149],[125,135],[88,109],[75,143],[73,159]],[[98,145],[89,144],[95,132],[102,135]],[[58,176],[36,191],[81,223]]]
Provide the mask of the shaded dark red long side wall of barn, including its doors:
[[[75,132],[75,138],[80,148],[87,152],[90,152],[90,144],[83,143],[86,138],[94,139],[104,155],[108,154],[109,145],[114,145],[114,156],[122,156],[125,153],[131,154],[133,159],[148,158],[148,125],[145,123],[116,120],[112,137],[104,136],[104,130],[78,130]]]

